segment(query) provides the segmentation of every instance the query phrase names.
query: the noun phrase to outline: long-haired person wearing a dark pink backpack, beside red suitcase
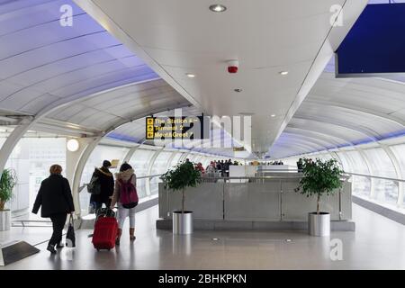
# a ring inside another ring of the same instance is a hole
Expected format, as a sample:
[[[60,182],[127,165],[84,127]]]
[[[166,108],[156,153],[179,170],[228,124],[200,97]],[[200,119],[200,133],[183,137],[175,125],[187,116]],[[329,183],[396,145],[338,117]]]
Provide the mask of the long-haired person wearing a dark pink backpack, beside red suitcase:
[[[130,241],[133,241],[136,238],[135,207],[138,205],[139,199],[136,186],[137,176],[135,175],[132,166],[128,163],[122,164],[120,172],[115,174],[115,188],[111,202],[111,209],[113,209],[115,204],[118,203],[118,234],[115,240],[115,245],[120,245],[122,228],[127,217],[130,218]]]

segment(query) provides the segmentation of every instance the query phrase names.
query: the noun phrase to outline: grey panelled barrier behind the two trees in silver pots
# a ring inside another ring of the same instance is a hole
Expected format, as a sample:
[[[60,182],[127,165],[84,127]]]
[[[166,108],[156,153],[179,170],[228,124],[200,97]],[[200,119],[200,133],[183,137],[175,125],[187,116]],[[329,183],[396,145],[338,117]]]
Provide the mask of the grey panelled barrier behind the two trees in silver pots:
[[[313,197],[296,193],[302,175],[202,177],[202,184],[187,189],[187,210],[202,220],[307,220],[316,207]],[[332,220],[351,219],[351,185],[344,185],[333,196],[324,197],[322,206]],[[159,190],[159,216],[170,218],[181,208],[181,193]]]

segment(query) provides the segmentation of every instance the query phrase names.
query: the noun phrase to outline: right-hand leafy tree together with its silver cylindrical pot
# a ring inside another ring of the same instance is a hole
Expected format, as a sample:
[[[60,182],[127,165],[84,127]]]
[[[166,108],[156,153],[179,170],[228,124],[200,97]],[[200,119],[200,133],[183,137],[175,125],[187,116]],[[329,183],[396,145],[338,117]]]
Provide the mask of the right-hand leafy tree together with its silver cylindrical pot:
[[[300,186],[295,190],[307,197],[316,195],[317,211],[310,212],[308,216],[308,229],[312,236],[329,236],[330,214],[320,211],[320,198],[323,195],[333,195],[342,187],[341,177],[343,171],[338,166],[338,161],[330,159],[322,161],[304,158],[302,164],[302,179]]]

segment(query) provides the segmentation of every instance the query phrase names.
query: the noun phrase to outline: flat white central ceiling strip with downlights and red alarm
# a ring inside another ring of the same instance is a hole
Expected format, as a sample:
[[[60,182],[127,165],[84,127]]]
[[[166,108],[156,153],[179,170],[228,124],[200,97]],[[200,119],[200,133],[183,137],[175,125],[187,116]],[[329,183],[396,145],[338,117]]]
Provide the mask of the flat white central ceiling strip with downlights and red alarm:
[[[367,0],[225,0],[220,14],[209,0],[76,3],[206,114],[253,113],[253,150],[266,152]],[[342,26],[330,24],[334,5],[343,7]],[[229,75],[226,62],[235,58],[238,74]]]

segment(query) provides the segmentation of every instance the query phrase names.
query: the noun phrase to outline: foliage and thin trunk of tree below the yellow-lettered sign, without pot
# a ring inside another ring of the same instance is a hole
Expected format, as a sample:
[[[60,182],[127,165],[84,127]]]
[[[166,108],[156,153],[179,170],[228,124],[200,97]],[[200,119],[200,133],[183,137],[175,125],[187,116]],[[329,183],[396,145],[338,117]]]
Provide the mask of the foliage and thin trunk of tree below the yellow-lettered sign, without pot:
[[[182,213],[184,213],[185,188],[200,184],[201,173],[194,168],[193,162],[184,162],[170,169],[162,176],[165,187],[174,191],[182,191]]]

